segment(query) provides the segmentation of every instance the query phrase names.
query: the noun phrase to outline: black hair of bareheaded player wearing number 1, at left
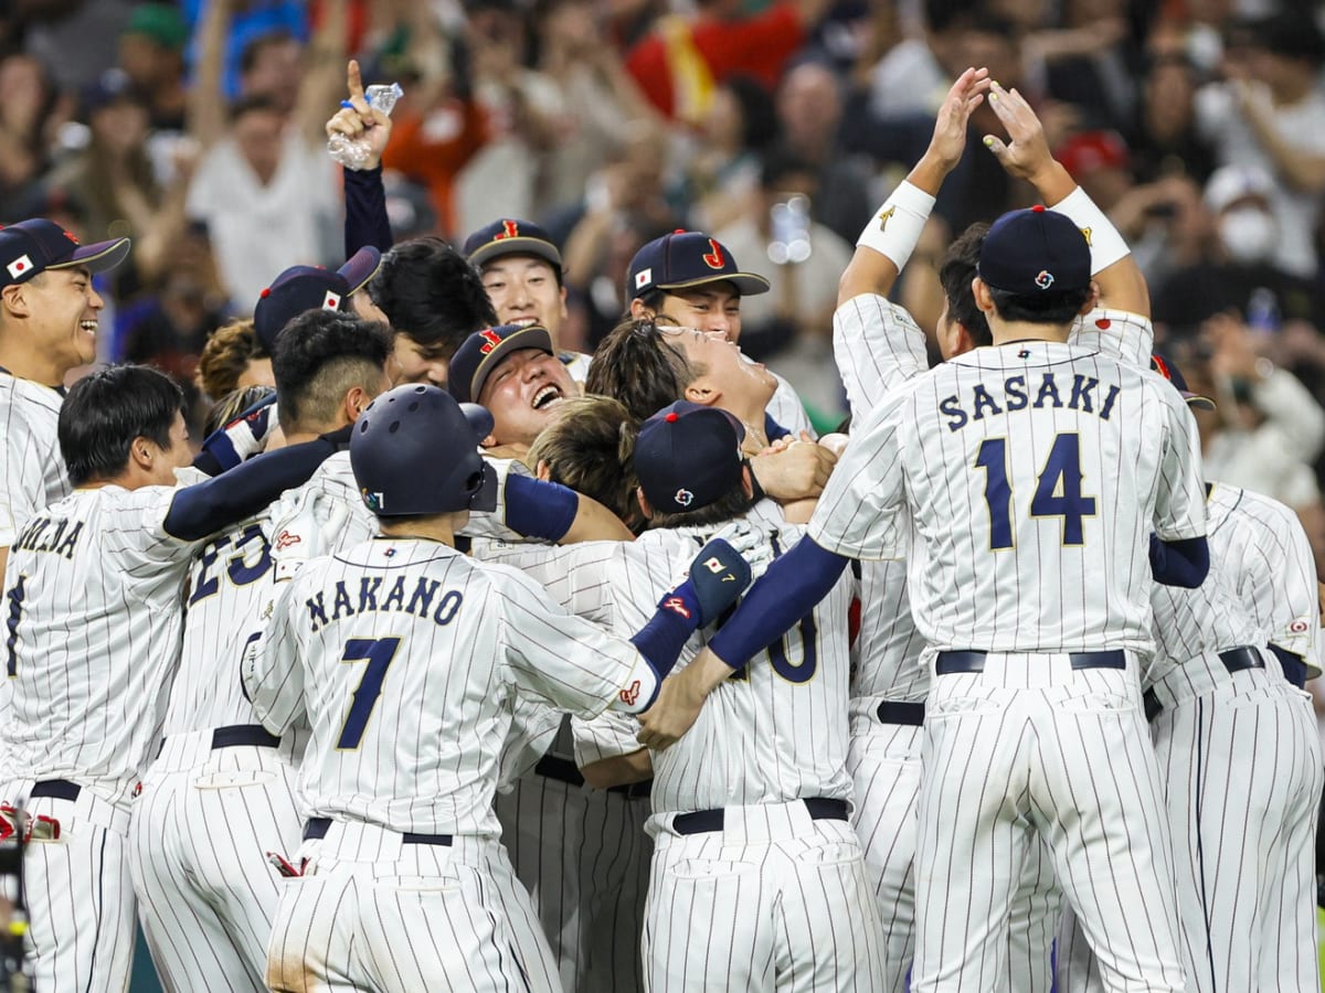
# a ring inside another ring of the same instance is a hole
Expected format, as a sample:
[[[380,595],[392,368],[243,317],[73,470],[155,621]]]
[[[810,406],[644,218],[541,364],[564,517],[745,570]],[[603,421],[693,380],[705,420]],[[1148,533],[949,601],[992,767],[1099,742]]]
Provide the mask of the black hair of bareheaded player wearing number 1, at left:
[[[135,438],[170,449],[184,391],[147,365],[110,365],[74,383],[60,408],[60,454],[74,486],[114,479]]]

